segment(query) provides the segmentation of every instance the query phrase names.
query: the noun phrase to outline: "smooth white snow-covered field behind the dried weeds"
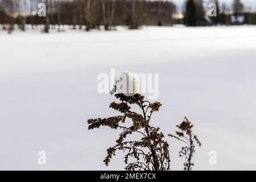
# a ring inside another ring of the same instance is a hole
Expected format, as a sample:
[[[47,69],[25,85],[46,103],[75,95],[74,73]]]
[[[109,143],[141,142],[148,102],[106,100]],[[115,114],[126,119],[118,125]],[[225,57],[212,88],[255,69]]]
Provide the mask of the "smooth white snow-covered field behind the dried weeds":
[[[110,68],[159,73],[163,107],[152,122],[166,135],[184,116],[193,122],[203,143],[193,169],[256,169],[256,26],[0,31],[0,169],[122,169],[121,153],[102,162],[118,132],[86,123],[115,114],[114,97],[97,92]],[[183,169],[180,144],[166,139],[172,169]]]

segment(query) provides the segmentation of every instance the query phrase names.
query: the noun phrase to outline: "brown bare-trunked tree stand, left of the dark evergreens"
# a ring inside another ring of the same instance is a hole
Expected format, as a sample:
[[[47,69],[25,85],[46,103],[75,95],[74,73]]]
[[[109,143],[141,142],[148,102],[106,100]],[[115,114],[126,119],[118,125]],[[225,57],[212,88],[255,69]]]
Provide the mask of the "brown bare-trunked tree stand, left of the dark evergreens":
[[[46,4],[46,17],[37,14],[38,4]],[[145,0],[0,0],[0,23],[3,29],[13,31],[14,24],[25,30],[45,24],[44,31],[51,27],[61,31],[63,24],[74,29],[85,27],[89,31],[103,25],[105,30],[126,25],[131,29],[141,25],[171,25],[176,6],[170,1]]]

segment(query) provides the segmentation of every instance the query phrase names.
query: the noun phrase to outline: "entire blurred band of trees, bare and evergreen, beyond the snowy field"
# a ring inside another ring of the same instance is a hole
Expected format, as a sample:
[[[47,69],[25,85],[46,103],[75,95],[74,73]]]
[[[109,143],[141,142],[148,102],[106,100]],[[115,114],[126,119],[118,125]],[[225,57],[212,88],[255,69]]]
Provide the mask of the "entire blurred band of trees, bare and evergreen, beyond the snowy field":
[[[46,5],[46,16],[38,15],[40,3]],[[217,16],[208,15],[209,3],[216,3]],[[179,9],[172,1],[146,0],[0,0],[0,30],[11,33],[17,27],[26,31],[44,24],[44,32],[70,25],[73,29],[89,31],[104,26],[137,29],[140,26],[216,26],[256,24],[254,7],[247,7],[240,0],[231,5],[218,0],[187,0]]]

